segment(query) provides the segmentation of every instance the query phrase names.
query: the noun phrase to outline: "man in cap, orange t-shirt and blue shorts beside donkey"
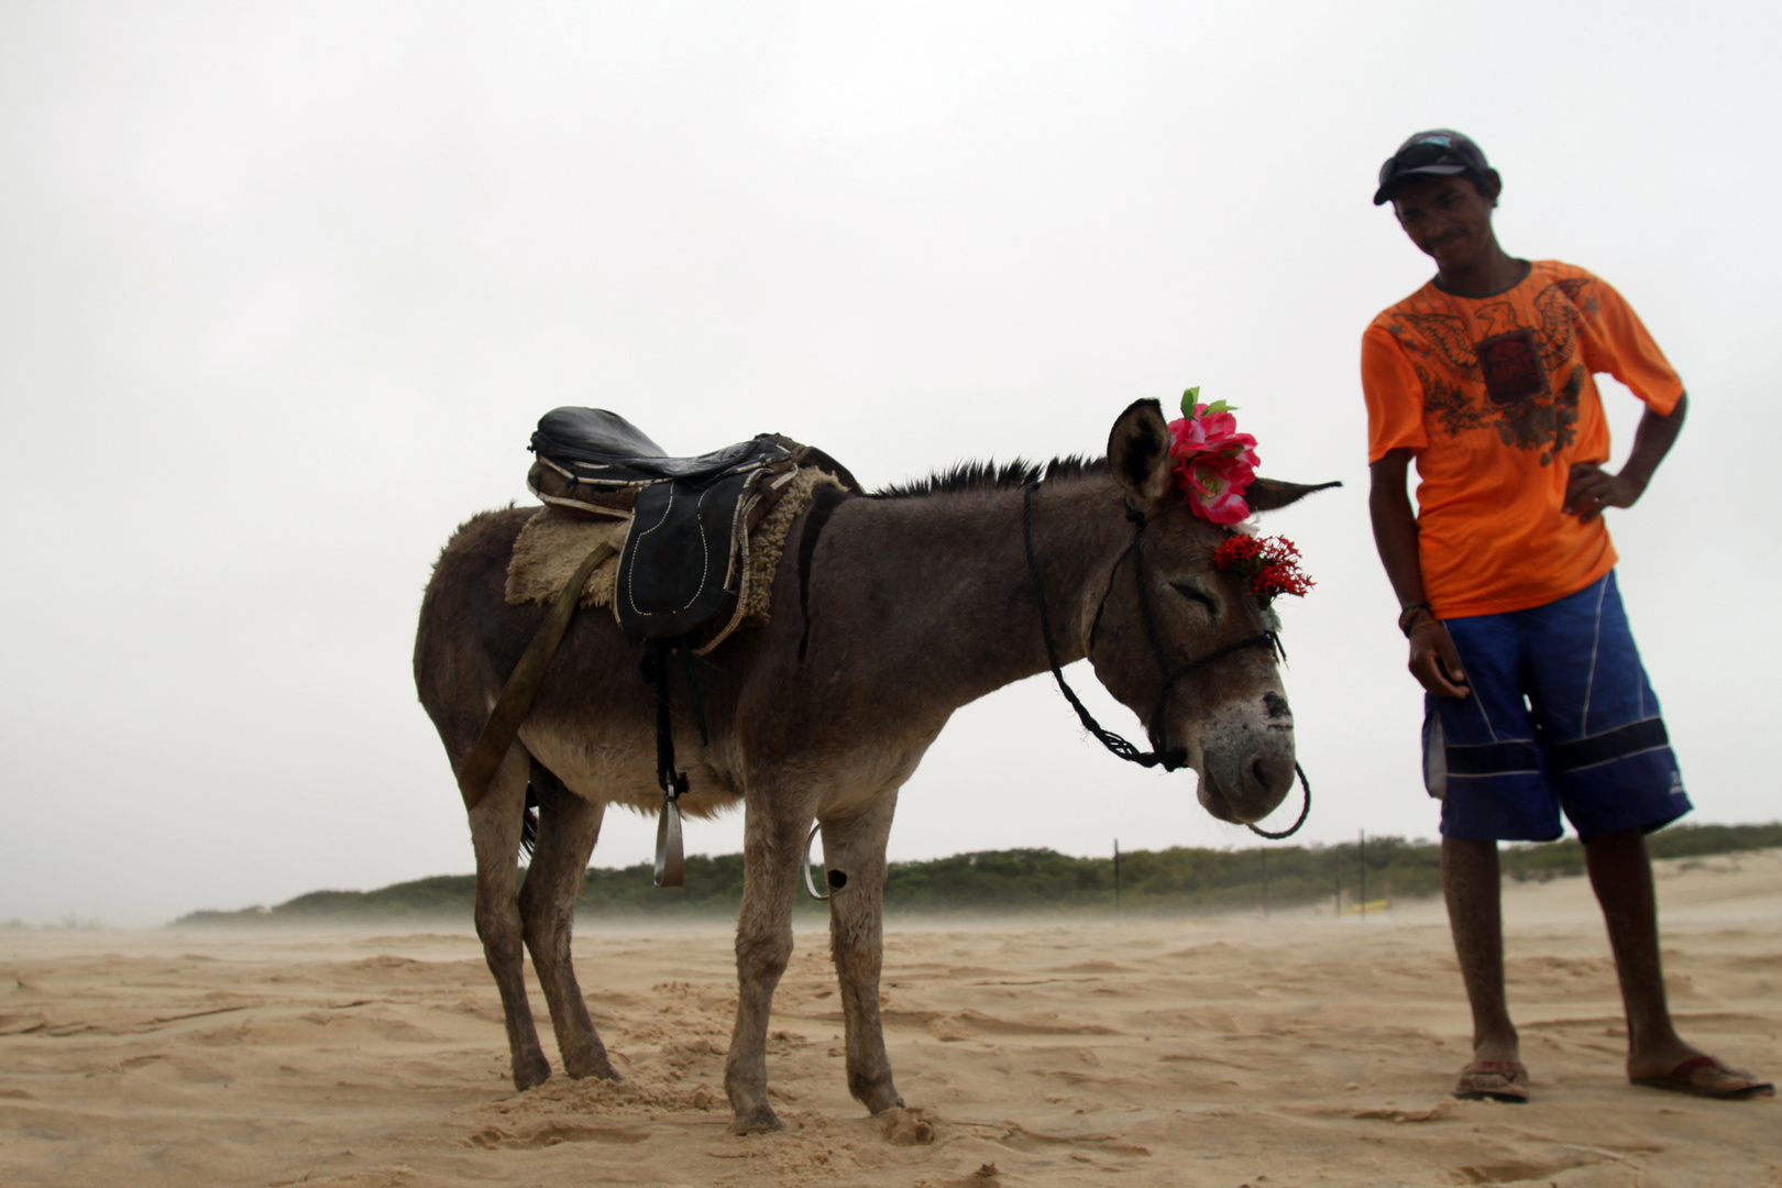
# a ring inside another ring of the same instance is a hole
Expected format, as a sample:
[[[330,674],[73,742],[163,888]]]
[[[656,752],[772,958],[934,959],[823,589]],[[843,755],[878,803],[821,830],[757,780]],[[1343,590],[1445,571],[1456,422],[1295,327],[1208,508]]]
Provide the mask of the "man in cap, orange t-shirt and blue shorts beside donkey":
[[[1631,508],[1688,397],[1602,280],[1516,260],[1492,230],[1502,178],[1458,132],[1420,132],[1379,171],[1436,276],[1361,340],[1374,540],[1427,691],[1424,771],[1442,800],[1442,883],[1472,1003],[1454,1094],[1527,1101],[1504,997],[1499,841],[1577,828],[1627,1010],[1636,1085],[1707,1097],[1775,1090],[1682,1042],[1659,967],[1645,834],[1689,810],[1614,584],[1606,508]],[[1647,410],[1618,472],[1593,372]],[[1418,513],[1406,495],[1417,460]]]

